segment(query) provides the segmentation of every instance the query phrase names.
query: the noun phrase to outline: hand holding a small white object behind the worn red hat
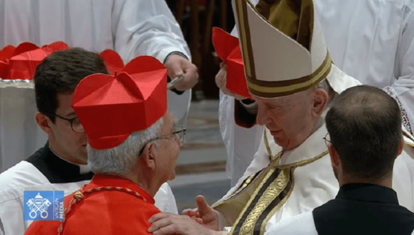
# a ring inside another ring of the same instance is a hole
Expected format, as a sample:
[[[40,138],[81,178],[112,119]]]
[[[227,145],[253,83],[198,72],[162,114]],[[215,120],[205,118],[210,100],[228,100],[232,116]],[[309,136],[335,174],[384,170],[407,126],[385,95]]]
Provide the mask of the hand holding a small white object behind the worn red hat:
[[[170,79],[175,79],[184,75],[183,81],[175,83],[175,89],[179,91],[193,88],[198,82],[199,76],[197,67],[188,61],[188,59],[181,57],[178,54],[173,54],[168,57],[166,68]]]

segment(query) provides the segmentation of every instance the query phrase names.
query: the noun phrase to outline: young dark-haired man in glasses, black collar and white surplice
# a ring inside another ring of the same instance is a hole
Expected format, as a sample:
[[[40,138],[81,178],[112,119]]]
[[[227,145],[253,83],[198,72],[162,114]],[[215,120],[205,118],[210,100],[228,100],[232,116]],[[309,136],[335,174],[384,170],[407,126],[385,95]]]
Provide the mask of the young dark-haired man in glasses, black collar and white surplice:
[[[77,84],[95,73],[108,74],[105,64],[98,54],[80,48],[50,54],[37,67],[33,80],[39,112],[35,119],[48,134],[48,143],[0,174],[0,234],[23,234],[32,223],[23,221],[24,191],[61,190],[66,196],[92,178],[86,165],[88,141],[71,103]],[[161,211],[177,213],[167,184],[155,200]]]

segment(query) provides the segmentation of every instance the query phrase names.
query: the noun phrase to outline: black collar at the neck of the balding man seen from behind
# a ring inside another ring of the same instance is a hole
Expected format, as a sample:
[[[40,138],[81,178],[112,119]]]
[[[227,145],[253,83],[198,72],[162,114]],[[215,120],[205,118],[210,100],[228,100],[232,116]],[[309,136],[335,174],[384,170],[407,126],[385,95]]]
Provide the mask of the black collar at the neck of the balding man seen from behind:
[[[350,183],[342,185],[335,199],[399,205],[397,193],[393,189],[368,183]]]

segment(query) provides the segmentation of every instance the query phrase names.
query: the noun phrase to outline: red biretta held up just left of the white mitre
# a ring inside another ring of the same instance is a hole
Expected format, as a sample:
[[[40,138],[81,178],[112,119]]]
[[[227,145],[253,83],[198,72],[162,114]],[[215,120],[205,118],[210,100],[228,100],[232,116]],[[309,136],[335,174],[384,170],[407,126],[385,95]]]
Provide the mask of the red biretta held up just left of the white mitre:
[[[219,58],[227,63],[226,88],[251,99],[248,93],[239,39],[221,28],[213,28],[213,45]]]

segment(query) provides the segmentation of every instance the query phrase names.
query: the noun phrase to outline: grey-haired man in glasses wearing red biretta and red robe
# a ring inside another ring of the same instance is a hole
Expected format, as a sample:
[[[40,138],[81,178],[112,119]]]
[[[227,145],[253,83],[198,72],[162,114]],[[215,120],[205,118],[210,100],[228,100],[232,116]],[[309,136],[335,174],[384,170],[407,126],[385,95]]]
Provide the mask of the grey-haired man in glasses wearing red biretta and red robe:
[[[72,108],[95,176],[65,198],[63,221],[35,221],[26,234],[147,234],[148,219],[160,213],[153,197],[175,178],[186,130],[167,111],[166,68],[153,57],[136,61],[158,68],[135,77],[94,74],[77,86]]]

